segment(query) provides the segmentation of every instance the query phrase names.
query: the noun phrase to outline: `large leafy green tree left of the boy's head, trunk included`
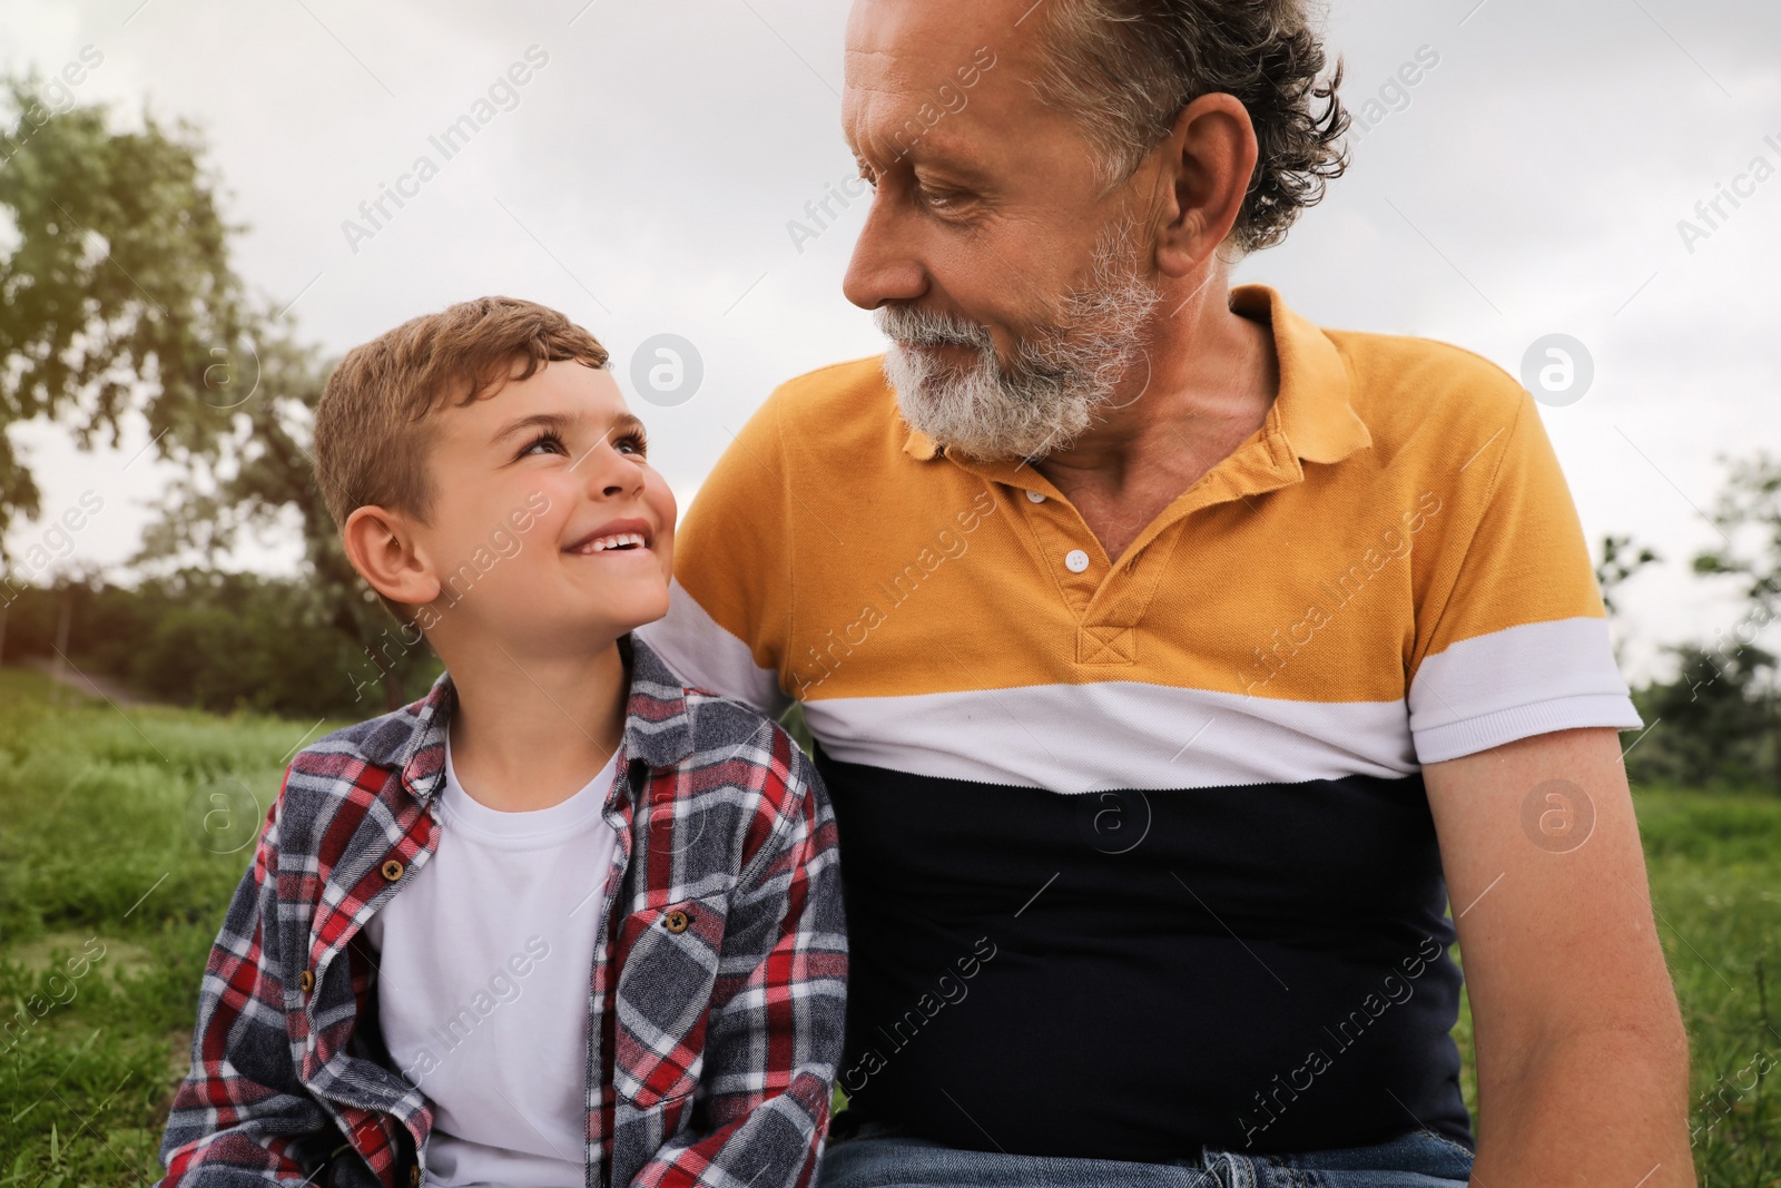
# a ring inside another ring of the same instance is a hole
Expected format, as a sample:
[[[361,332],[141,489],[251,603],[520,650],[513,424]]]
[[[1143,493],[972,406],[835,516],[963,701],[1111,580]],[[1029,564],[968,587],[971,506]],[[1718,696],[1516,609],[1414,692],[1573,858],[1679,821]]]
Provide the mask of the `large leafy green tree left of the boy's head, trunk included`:
[[[294,518],[319,613],[365,657],[363,677],[340,680],[404,704],[431,655],[392,638],[340,550],[306,449],[326,367],[244,294],[230,265],[240,228],[217,210],[196,130],[153,116],[116,128],[105,107],[48,114],[34,91],[0,80],[14,112],[0,121],[0,219],[12,232],[0,228],[0,244],[16,244],[0,256],[0,534],[41,513],[9,426],[45,419],[91,447],[146,420],[183,477],[132,565],[185,552],[216,565],[240,529]]]

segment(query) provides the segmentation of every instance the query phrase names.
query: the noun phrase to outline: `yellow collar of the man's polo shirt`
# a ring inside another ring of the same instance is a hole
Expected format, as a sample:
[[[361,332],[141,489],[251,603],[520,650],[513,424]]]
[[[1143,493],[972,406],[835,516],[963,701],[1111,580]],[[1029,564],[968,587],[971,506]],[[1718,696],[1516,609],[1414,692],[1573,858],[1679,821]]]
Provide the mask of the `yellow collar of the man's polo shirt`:
[[[1273,351],[1281,362],[1281,390],[1268,413],[1265,435],[1304,461],[1341,461],[1373,443],[1366,422],[1348,399],[1348,367],[1336,344],[1318,326],[1286,306],[1268,285],[1238,285],[1231,310],[1273,328]],[[910,429],[903,452],[915,461],[940,456],[926,433]]]

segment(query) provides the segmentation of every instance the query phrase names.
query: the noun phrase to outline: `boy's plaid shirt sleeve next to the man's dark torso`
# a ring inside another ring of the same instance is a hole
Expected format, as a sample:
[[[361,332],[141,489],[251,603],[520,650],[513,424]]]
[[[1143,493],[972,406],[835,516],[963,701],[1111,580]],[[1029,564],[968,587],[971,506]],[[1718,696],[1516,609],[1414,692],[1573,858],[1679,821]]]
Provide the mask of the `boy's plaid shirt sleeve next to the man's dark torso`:
[[[634,1184],[803,1188],[841,1063],[848,940],[835,818],[816,766],[771,732],[769,841],[730,903],[693,1126]]]

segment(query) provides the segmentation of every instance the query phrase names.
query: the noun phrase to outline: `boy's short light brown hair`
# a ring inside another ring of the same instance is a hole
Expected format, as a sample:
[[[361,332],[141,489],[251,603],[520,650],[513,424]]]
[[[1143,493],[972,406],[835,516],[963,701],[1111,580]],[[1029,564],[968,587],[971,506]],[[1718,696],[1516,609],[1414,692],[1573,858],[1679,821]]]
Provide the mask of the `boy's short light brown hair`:
[[[606,367],[607,358],[568,317],[516,297],[459,301],[353,347],[315,404],[315,481],[328,515],[344,529],[353,511],[378,506],[427,524],[436,411],[493,395],[549,362]],[[410,622],[401,606],[383,604]]]

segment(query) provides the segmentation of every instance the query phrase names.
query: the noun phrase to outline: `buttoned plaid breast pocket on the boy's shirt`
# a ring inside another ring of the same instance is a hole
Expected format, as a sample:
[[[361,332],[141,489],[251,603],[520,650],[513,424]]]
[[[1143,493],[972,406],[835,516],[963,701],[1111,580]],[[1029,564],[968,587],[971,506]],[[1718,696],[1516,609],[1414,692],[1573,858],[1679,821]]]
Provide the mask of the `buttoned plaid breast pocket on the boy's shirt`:
[[[721,896],[680,899],[625,917],[613,1088],[638,1110],[698,1088],[725,907]]]

